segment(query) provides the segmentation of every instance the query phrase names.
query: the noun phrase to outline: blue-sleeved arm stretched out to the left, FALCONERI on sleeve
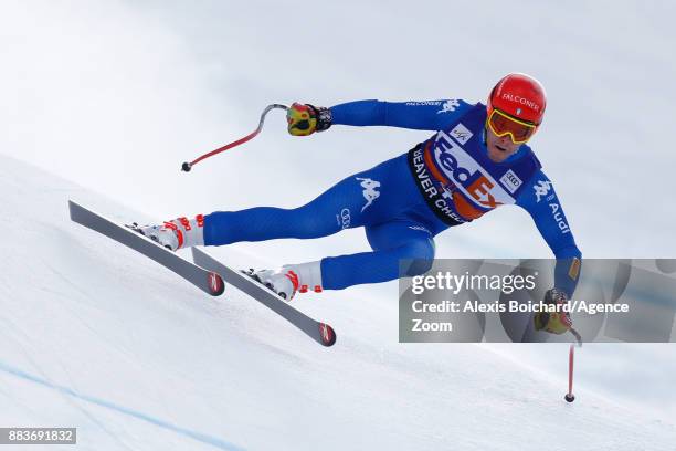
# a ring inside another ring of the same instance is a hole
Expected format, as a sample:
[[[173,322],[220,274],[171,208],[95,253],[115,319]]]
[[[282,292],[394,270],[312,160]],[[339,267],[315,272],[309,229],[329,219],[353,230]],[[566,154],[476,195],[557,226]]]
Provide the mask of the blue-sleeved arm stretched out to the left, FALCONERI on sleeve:
[[[431,102],[358,101],[331,106],[332,124],[440,130],[472,105],[462,99]]]

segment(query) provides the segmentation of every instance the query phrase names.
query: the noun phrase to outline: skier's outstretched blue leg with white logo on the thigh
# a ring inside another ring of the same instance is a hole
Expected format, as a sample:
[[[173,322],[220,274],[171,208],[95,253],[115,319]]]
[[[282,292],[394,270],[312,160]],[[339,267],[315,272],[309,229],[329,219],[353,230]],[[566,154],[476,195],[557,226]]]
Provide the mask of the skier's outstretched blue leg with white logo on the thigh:
[[[419,201],[405,159],[398,157],[339,181],[299,208],[257,207],[207,214],[204,244],[326,237],[385,221]]]

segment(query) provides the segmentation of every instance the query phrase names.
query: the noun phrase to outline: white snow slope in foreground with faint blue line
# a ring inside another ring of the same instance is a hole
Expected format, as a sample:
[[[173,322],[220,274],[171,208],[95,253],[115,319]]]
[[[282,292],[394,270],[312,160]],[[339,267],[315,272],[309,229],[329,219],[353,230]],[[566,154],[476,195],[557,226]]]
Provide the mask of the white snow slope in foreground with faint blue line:
[[[70,222],[68,198],[150,219],[0,158],[2,426],[77,427],[97,451],[674,450],[664,419],[584,389],[563,402],[564,367],[552,380],[485,345],[398,344],[397,304],[366,291],[294,301],[336,328],[318,346]]]

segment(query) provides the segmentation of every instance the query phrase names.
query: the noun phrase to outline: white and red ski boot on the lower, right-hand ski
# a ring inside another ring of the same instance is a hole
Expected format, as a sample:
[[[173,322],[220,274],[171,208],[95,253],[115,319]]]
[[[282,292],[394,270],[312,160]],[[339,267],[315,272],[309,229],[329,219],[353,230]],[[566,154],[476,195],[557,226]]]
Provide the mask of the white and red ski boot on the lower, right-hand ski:
[[[278,270],[253,269],[244,271],[255,281],[267,286],[286,301],[291,301],[297,292],[306,293],[309,290],[321,292],[321,264],[309,262],[302,264],[287,264]]]

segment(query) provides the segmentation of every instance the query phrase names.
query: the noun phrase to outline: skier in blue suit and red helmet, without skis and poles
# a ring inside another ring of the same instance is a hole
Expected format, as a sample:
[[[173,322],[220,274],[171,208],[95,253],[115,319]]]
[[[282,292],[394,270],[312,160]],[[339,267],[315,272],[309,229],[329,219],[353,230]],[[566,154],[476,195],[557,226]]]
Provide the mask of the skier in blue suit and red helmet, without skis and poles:
[[[520,73],[493,88],[487,105],[462,99],[388,103],[359,101],[330,108],[293,104],[288,133],[307,136],[334,125],[391,126],[435,134],[408,153],[347,177],[295,209],[257,207],[179,218],[140,231],[176,251],[277,238],[319,238],[363,227],[371,252],[327,256],[250,275],[286,300],[308,290],[342,290],[429,270],[434,237],[503,204],[516,203],[532,217],[557,258],[554,287],[547,301],[572,295],[581,264],[570,224],[552,182],[526,143],[547,106],[542,85]],[[411,259],[400,272],[400,261]],[[422,262],[422,263],[421,263]],[[538,314],[536,328],[561,334],[568,314]]]

